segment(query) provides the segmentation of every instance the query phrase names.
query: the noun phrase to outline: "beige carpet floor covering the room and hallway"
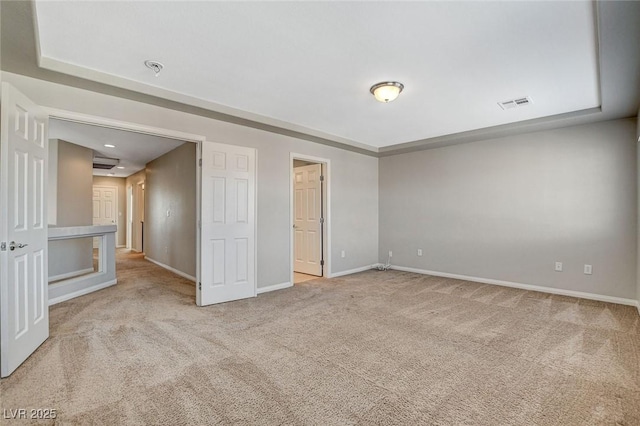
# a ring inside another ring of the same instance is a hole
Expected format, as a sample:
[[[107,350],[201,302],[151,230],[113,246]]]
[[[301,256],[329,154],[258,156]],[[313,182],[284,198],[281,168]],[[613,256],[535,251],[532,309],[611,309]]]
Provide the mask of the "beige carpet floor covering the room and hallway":
[[[632,307],[369,271],[198,308],[191,283],[139,256],[119,268],[117,286],[51,308],[2,409],[53,408],[59,424],[640,424]]]

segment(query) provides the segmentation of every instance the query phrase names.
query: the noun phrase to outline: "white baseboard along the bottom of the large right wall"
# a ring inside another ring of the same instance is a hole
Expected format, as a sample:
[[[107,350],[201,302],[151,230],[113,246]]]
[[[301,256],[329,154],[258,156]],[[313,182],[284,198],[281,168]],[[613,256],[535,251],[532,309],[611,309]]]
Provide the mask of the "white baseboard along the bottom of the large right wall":
[[[564,290],[553,287],[542,287],[532,284],[514,283],[511,281],[494,280],[491,278],[479,278],[469,275],[450,274],[448,272],[428,271],[425,269],[407,268],[404,266],[392,265],[391,269],[404,272],[413,272],[416,274],[433,275],[436,277],[455,278],[458,280],[474,281],[482,284],[493,284],[502,287],[519,288],[521,290],[538,291],[540,293],[558,294],[561,296],[577,297],[579,299],[597,300],[600,302],[617,303],[619,305],[638,306],[638,301],[634,299],[625,299],[622,297],[605,296],[603,294],[585,293],[582,291]],[[640,308],[639,308],[640,309]]]

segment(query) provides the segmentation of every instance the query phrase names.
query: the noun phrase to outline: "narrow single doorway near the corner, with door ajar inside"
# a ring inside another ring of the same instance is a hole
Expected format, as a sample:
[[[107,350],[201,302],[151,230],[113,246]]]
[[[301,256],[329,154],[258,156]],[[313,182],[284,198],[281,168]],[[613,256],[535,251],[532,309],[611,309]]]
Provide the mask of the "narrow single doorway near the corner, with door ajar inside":
[[[329,160],[291,154],[291,283],[329,277]]]

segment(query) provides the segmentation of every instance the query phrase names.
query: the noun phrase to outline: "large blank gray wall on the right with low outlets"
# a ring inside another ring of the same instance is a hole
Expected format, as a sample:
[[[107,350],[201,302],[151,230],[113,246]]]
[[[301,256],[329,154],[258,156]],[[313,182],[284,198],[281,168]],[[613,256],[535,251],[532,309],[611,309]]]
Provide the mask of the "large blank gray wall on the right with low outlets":
[[[635,299],[635,135],[627,119],[382,158],[379,258]]]

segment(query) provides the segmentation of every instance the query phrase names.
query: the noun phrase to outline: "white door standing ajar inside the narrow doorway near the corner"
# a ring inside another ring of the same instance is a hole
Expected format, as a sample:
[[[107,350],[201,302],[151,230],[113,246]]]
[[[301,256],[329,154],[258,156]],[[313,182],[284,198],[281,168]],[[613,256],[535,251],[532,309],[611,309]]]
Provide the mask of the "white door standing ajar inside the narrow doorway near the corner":
[[[322,276],[322,166],[293,169],[295,272]]]

